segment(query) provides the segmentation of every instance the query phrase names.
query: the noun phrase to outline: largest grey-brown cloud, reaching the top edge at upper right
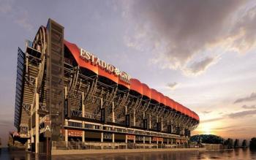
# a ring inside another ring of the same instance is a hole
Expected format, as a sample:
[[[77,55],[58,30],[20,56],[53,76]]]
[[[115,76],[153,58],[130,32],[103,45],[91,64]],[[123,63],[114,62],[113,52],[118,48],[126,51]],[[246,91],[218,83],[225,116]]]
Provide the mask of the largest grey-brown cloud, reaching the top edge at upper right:
[[[138,0],[123,7],[133,24],[127,46],[154,53],[151,62],[161,68],[198,75],[224,51],[255,47],[256,7],[246,8],[246,1]]]

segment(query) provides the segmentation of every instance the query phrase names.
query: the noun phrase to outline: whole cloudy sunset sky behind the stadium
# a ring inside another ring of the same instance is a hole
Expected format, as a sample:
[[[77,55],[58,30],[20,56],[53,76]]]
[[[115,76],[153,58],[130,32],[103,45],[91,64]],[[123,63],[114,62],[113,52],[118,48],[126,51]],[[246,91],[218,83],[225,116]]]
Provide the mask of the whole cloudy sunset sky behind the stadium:
[[[64,38],[200,116],[192,134],[256,137],[256,1],[0,0],[0,137],[13,126],[18,47],[52,18]]]

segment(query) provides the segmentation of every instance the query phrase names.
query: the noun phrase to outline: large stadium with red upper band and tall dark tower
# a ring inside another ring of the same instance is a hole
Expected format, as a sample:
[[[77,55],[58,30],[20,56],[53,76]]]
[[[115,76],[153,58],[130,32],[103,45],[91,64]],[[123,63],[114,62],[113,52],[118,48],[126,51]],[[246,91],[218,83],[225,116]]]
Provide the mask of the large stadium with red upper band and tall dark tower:
[[[64,39],[49,19],[18,48],[15,127],[28,151],[187,145],[198,115]]]

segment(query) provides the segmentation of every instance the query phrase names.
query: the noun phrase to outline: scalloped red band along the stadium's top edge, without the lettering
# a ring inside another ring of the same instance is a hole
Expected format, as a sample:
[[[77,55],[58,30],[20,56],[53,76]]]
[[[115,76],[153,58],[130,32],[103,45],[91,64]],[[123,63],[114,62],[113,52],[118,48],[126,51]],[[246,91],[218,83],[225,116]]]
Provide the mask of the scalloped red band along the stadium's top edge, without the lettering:
[[[102,69],[99,66],[91,64],[90,61],[85,61],[84,59],[80,58],[80,48],[77,45],[67,42],[66,40],[64,40],[64,45],[72,53],[72,56],[74,56],[75,61],[78,63],[80,67],[89,69],[95,74],[100,75],[102,77],[107,77],[108,79],[112,80],[115,83],[118,83],[119,85],[124,85],[132,91],[136,91],[143,96],[147,96],[149,99],[154,99],[155,101],[162,103],[167,107],[170,107],[172,110],[176,110],[180,113],[183,113],[184,115],[188,115],[189,117],[195,118],[197,121],[199,121],[199,116],[195,112],[189,110],[187,107],[184,107],[178,102],[173,101],[173,99],[164,96],[155,89],[149,88],[148,85],[140,83],[140,80],[131,78],[129,80],[129,83],[126,83],[124,82],[124,80],[121,80],[120,77],[114,75],[113,73],[106,72],[105,69]]]

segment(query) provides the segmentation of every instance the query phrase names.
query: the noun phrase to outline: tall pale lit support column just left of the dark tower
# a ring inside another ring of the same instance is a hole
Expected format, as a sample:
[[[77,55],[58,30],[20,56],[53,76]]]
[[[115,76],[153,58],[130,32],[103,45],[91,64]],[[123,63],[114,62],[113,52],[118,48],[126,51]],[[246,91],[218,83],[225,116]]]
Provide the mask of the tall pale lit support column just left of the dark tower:
[[[36,87],[37,88],[37,82],[38,78],[36,77]],[[35,121],[36,121],[36,129],[35,129],[35,153],[38,153],[39,151],[39,115],[37,113],[37,111],[39,110],[39,94],[36,92],[36,97],[35,97]]]

